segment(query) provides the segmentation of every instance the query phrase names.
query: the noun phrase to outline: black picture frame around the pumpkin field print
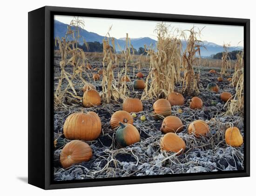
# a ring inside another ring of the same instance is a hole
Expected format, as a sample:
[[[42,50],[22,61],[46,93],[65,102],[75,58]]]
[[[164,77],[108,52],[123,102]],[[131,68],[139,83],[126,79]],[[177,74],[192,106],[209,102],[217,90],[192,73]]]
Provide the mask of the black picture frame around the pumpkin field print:
[[[54,15],[189,22],[244,27],[244,170],[161,176],[122,177],[54,182],[53,174],[53,53]],[[28,183],[42,189],[63,189],[135,183],[158,183],[250,175],[250,20],[44,6],[28,13]]]

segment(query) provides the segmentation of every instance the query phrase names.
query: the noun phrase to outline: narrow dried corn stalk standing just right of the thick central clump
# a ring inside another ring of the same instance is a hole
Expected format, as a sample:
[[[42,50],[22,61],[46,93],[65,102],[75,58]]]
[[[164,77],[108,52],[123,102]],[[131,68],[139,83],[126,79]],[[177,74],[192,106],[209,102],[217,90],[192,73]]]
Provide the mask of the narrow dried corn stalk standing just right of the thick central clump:
[[[184,68],[184,81],[183,81],[183,92],[189,96],[198,95],[199,92],[199,76],[200,72],[195,75],[193,65],[201,63],[200,47],[202,41],[198,40],[201,31],[195,32],[195,27],[189,31],[189,39],[187,40],[187,47],[183,54],[183,68]],[[198,55],[198,57],[196,57]]]

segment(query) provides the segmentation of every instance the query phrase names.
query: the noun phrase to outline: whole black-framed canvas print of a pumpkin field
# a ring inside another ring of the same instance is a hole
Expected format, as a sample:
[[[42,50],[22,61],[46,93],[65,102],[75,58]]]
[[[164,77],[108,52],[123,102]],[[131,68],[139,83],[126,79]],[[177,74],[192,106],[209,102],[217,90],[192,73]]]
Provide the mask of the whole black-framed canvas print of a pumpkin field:
[[[249,19],[28,13],[28,182],[249,176]]]

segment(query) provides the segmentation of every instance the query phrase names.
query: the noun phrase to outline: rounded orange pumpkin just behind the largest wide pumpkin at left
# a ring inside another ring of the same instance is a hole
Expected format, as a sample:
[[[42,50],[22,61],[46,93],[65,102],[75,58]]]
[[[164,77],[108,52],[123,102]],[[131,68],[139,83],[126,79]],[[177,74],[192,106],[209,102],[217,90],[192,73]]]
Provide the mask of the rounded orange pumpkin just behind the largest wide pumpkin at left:
[[[84,95],[83,95],[84,107],[94,107],[99,105],[101,105],[101,96],[96,90],[90,89],[84,92]]]

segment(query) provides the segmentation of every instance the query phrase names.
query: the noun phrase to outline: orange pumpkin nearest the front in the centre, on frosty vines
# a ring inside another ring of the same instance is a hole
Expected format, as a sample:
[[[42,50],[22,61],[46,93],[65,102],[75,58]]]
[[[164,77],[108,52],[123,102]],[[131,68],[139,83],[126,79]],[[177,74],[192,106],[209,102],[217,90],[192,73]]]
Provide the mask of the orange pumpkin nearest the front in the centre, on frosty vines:
[[[186,149],[184,140],[175,133],[166,133],[160,141],[160,146],[162,150],[167,152],[179,152],[182,149],[179,154],[182,154]]]

